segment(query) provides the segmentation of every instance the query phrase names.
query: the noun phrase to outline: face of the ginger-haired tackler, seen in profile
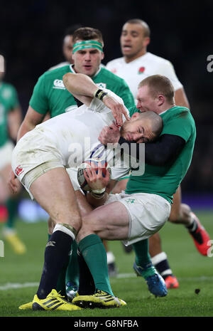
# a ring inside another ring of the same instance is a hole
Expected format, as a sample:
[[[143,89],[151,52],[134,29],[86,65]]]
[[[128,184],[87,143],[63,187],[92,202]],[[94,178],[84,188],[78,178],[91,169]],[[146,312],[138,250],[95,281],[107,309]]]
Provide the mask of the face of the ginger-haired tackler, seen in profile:
[[[149,88],[147,85],[138,88],[136,107],[141,110],[141,112],[152,111],[158,114],[158,104],[159,99],[153,98],[153,96],[149,93]]]

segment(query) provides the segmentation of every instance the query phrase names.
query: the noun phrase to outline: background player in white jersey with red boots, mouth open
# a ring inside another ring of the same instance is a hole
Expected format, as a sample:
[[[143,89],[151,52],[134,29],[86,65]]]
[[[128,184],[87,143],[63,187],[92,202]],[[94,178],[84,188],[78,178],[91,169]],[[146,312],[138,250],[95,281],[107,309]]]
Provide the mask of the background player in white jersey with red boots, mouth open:
[[[120,38],[123,57],[116,58],[107,63],[107,69],[126,80],[135,100],[138,84],[143,78],[154,74],[165,75],[171,80],[175,88],[175,104],[190,108],[185,90],[178,80],[170,61],[147,51],[147,46],[151,40],[150,35],[150,28],[145,21],[141,19],[130,19],[127,21],[122,28]],[[138,102],[136,101],[136,103],[137,107],[140,108],[140,100]],[[114,193],[124,189],[127,181],[128,179],[121,180],[114,189]],[[207,245],[209,241],[208,233],[200,224],[197,216],[192,213],[190,206],[181,204],[180,187],[174,195],[174,203],[169,221],[176,224],[184,224],[192,236],[197,250],[202,255],[207,256],[207,250],[209,248]],[[153,264],[163,278],[165,278],[167,287],[178,288],[178,280],[173,275],[166,253],[162,251],[159,233],[155,233],[150,238],[149,243]]]

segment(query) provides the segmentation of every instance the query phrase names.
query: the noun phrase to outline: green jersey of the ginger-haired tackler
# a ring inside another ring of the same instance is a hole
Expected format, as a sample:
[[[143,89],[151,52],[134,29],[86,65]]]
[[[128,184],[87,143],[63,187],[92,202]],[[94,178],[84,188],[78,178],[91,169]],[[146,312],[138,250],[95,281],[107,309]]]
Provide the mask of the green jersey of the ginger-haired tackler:
[[[134,111],[137,111],[136,107]],[[133,109],[131,109],[132,114]],[[171,165],[159,167],[145,164],[143,176],[130,176],[126,186],[126,193],[158,194],[171,204],[173,194],[178,189],[187,169],[190,167],[195,145],[196,128],[190,110],[186,107],[172,107],[160,114],[160,116],[163,118],[163,131],[160,135],[178,135],[185,140],[185,147],[183,147],[182,152]]]

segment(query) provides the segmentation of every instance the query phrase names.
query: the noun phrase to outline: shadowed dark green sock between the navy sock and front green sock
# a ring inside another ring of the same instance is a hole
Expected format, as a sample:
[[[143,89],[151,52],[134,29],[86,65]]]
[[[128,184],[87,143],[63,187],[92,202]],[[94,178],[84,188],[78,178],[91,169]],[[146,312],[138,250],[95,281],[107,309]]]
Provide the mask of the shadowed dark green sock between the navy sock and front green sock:
[[[72,254],[70,256],[70,261],[67,266],[66,273],[66,284],[70,282],[75,286],[79,286],[79,266],[77,261],[77,243],[73,241],[72,243]]]

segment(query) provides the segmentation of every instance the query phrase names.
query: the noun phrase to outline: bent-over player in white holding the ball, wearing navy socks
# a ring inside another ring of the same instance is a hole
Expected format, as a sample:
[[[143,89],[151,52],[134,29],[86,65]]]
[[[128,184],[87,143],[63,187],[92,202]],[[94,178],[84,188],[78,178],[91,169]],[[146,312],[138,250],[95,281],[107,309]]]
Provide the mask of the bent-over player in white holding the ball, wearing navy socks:
[[[97,85],[86,75],[68,73],[64,79],[65,86],[67,78],[72,79],[77,92],[83,86],[84,96],[81,97],[76,93],[76,97],[84,105],[37,125],[35,129],[18,140],[13,150],[13,172],[31,197],[38,201],[56,224],[45,248],[43,273],[38,292],[33,299],[33,310],[79,309],[64,300],[55,290],[58,275],[70,253],[72,241],[75,240],[82,225],[81,212],[66,168],[80,165],[85,158],[90,157],[94,149],[96,149],[94,157],[98,157],[99,153],[105,150],[98,140],[100,130],[112,124],[114,120],[121,125],[122,116],[128,119],[122,126],[122,135],[126,139],[130,137],[136,142],[145,140],[147,142],[153,140],[162,130],[162,121],[154,113],[151,117],[146,113],[136,113],[129,120],[121,98],[111,94],[110,91],[97,89]],[[75,95],[75,88],[72,88],[73,95]],[[93,98],[94,96],[96,97]],[[92,103],[91,98],[93,98]],[[153,122],[159,130],[155,131]],[[141,125],[144,130],[138,132]],[[107,151],[109,164],[112,160],[110,155],[113,154],[114,152],[110,149]],[[126,172],[124,168],[114,168],[112,178],[117,179],[124,172]],[[107,176],[109,180],[109,172]],[[71,179],[75,182],[75,178]],[[12,188],[13,191],[16,190],[15,186]],[[97,194],[97,192],[94,191],[91,194]],[[102,250],[105,251],[103,244]],[[106,275],[108,277],[108,269]],[[100,285],[98,290],[108,293],[111,300],[110,305],[107,303],[106,305],[109,307],[119,307],[124,304],[121,300],[114,298],[109,279],[107,279],[107,288],[106,284],[104,288]]]

